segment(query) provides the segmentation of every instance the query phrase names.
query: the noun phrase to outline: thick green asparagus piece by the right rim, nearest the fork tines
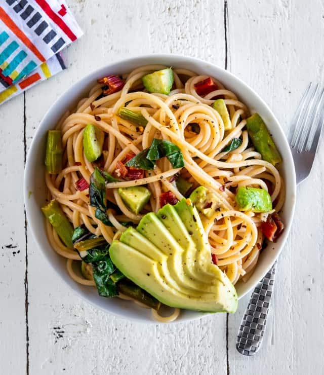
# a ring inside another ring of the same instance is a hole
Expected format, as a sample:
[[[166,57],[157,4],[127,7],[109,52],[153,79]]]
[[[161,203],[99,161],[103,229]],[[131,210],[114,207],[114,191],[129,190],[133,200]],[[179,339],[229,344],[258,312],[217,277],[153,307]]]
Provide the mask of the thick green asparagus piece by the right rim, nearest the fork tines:
[[[263,160],[273,165],[282,161],[278,149],[260,115],[254,114],[247,119],[247,129],[254,147],[261,154]]]

